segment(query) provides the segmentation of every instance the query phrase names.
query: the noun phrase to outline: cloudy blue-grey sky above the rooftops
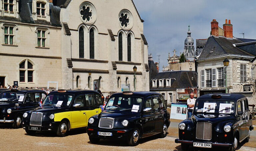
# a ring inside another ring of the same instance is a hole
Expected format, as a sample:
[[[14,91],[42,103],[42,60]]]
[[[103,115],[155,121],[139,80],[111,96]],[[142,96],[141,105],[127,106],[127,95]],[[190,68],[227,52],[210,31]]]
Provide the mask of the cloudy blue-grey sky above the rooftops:
[[[144,35],[148,53],[154,62],[160,55],[160,70],[167,66],[168,53],[173,55],[184,48],[190,25],[191,37],[205,39],[210,36],[211,21],[216,19],[223,28],[225,19],[231,20],[233,36],[256,39],[255,0],[133,0],[144,22]]]

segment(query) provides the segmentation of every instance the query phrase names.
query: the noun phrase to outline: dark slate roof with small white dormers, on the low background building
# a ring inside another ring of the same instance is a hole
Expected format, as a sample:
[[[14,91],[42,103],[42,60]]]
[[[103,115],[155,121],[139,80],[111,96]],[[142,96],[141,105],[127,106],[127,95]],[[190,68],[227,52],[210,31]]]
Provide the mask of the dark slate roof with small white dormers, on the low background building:
[[[193,77],[193,80],[192,80]],[[171,79],[171,87],[166,86],[166,80],[168,78]],[[175,79],[174,79],[175,78]],[[184,88],[192,88],[197,87],[197,78],[195,71],[166,71],[159,72],[153,79],[164,79],[164,87],[157,86],[156,88],[152,88],[152,84],[150,85],[151,90],[170,90],[170,89],[184,89]],[[152,81],[152,79],[150,79]],[[157,81],[157,85],[159,81]]]

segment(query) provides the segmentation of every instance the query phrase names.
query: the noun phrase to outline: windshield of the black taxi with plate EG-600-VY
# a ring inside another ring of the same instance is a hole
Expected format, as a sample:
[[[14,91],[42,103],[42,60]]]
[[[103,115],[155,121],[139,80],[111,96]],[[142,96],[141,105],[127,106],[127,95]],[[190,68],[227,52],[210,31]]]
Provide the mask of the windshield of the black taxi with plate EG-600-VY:
[[[130,97],[130,96],[112,97],[109,99],[104,110],[138,112],[141,102],[142,102],[142,98],[138,98],[138,97]]]

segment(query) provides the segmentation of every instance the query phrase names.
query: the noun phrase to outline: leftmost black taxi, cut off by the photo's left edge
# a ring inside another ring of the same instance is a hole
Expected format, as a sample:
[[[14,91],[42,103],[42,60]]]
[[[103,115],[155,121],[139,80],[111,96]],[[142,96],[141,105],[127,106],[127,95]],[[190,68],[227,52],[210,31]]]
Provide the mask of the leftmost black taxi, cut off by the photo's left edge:
[[[11,89],[0,93],[0,124],[12,123],[13,128],[21,127],[23,113],[39,106],[46,92],[31,89]]]

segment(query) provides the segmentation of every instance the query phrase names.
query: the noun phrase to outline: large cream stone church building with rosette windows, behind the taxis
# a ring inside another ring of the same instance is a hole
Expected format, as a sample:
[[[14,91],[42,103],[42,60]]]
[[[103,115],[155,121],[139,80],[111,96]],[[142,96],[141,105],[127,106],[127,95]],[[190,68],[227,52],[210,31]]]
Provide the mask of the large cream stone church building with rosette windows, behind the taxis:
[[[144,21],[132,0],[1,0],[1,6],[2,85],[54,81],[59,89],[111,94],[122,84],[134,90],[136,66],[136,90],[149,90]]]

